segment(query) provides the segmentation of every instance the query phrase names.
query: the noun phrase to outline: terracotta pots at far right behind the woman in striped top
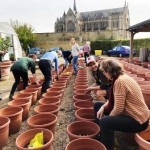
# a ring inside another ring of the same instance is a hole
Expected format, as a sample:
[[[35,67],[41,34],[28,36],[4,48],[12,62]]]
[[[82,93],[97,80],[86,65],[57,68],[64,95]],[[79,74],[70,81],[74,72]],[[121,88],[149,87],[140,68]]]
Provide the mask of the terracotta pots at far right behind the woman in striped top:
[[[124,66],[126,68],[126,65],[124,65]],[[143,93],[144,100],[150,109],[150,99],[149,99],[149,97],[150,97],[150,81],[149,81],[150,80],[150,70],[149,69],[141,69],[142,67],[139,67],[140,69],[138,70],[135,65],[133,65],[133,68],[131,66],[129,65],[126,68],[127,70],[131,71],[130,73],[128,72],[127,74],[132,76],[134,79],[135,79],[135,76],[134,76],[135,74],[137,75],[137,78],[141,77],[141,80],[136,80],[136,81],[139,84],[139,86],[142,90],[142,93]],[[145,68],[147,68],[147,67],[145,67]],[[149,150],[150,149],[150,124],[145,131],[135,134],[135,141],[139,146],[139,150]]]

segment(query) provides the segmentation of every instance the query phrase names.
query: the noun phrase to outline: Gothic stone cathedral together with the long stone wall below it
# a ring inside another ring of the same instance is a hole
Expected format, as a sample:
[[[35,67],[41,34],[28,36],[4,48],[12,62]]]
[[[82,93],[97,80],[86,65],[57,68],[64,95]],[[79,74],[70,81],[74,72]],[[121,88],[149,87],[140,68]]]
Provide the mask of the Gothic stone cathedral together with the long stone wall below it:
[[[126,29],[130,25],[129,9],[124,7],[98,10],[91,12],[77,12],[74,0],[73,9],[55,22],[54,33],[37,33],[36,46],[49,50],[51,47],[70,49],[70,38],[74,37],[79,45],[85,41],[104,39],[129,39]]]

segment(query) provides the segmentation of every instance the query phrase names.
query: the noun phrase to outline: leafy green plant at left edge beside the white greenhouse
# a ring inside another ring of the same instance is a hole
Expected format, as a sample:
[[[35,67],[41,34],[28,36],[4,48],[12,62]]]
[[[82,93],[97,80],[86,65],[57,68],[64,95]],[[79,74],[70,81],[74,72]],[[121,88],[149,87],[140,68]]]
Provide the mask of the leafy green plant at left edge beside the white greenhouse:
[[[0,50],[6,51],[11,46],[10,37],[2,38],[0,37]]]

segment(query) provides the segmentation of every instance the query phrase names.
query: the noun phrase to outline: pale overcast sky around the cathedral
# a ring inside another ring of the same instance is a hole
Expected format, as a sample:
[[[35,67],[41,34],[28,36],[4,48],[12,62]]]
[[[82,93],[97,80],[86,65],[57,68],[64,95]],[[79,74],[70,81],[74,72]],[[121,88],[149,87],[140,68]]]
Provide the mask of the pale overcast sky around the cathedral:
[[[126,0],[129,6],[130,25],[150,19],[150,0]],[[17,20],[30,24],[34,32],[54,32],[54,23],[69,8],[74,0],[1,0],[0,22]],[[123,7],[125,0],[76,0],[77,11],[86,12]],[[137,34],[135,38],[149,37],[150,33]]]

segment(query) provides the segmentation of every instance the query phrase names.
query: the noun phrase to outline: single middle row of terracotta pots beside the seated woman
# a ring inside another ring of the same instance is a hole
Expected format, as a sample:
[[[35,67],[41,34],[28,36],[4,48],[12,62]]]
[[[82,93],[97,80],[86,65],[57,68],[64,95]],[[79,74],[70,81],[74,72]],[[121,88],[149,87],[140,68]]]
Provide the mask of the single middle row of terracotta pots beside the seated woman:
[[[92,96],[85,92],[88,87],[87,69],[85,63],[80,61],[79,65],[82,65],[83,68],[78,69],[73,96],[76,121],[67,126],[70,143],[65,150],[106,150],[102,143],[95,140],[100,132],[100,128],[94,122]]]

